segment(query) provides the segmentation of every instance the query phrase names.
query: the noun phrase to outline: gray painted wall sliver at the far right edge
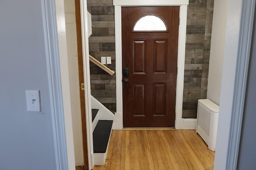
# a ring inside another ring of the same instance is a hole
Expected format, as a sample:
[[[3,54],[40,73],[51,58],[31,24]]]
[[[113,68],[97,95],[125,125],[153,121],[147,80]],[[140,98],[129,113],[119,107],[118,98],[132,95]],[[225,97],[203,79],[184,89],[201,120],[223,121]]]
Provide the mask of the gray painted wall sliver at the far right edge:
[[[256,169],[256,13],[248,70],[244,115],[238,154],[238,170]]]

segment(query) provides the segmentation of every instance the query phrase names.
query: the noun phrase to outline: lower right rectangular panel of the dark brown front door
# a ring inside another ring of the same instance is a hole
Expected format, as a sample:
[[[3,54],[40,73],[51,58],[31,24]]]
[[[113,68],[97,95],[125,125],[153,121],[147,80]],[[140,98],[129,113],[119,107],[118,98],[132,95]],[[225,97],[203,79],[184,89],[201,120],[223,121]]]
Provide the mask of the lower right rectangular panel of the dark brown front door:
[[[166,115],[166,83],[154,83],[153,90],[153,116]]]

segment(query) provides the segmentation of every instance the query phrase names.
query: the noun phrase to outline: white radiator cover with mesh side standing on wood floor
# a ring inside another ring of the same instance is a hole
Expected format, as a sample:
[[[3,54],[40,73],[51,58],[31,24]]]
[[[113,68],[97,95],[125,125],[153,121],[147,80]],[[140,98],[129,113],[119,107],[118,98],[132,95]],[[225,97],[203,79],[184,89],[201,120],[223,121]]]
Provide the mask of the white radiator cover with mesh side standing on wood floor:
[[[198,100],[196,133],[215,151],[219,106],[208,99]]]

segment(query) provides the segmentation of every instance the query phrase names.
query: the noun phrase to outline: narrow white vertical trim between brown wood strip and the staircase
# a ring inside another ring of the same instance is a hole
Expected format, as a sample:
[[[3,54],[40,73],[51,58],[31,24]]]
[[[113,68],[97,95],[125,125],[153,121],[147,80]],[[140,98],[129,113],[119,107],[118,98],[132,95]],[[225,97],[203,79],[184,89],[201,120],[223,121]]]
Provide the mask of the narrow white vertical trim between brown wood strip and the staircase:
[[[86,109],[86,133],[88,149],[88,168],[94,167],[93,137],[92,137],[92,104],[91,104],[91,85],[90,85],[90,65],[89,65],[89,36],[88,36],[88,14],[87,0],[80,0],[81,29],[82,29],[82,52],[84,65],[84,95]]]

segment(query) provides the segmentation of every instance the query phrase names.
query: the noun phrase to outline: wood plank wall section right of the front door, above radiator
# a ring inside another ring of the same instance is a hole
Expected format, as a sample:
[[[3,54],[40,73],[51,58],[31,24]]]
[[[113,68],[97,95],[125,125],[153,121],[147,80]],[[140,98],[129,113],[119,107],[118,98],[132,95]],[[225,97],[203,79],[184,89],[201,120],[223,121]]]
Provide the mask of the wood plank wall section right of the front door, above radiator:
[[[183,118],[196,118],[206,98],[214,0],[189,0],[184,72]]]

